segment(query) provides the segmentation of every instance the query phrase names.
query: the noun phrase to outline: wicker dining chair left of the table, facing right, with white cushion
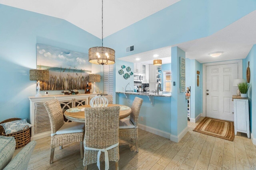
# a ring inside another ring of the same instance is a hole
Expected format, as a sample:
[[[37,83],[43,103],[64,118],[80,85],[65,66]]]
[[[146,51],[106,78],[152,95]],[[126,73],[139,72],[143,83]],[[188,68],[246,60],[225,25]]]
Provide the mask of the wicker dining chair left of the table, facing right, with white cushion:
[[[84,123],[64,122],[60,102],[57,99],[44,102],[51,124],[51,154],[50,164],[53,162],[54,148],[73,142],[80,142],[80,156],[83,158]]]

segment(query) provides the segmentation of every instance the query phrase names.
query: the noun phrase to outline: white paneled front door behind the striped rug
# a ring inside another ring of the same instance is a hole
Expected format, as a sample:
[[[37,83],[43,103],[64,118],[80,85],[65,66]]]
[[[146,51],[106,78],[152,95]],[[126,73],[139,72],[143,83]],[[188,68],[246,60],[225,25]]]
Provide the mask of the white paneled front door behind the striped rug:
[[[232,95],[238,64],[206,66],[206,117],[234,121]]]

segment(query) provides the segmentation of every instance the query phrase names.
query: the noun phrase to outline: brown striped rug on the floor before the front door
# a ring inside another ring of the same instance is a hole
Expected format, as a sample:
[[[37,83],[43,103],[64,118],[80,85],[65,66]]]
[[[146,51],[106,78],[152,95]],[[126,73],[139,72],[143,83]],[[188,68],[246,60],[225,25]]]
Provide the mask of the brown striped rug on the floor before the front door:
[[[234,141],[234,122],[205,117],[193,130],[206,135]]]

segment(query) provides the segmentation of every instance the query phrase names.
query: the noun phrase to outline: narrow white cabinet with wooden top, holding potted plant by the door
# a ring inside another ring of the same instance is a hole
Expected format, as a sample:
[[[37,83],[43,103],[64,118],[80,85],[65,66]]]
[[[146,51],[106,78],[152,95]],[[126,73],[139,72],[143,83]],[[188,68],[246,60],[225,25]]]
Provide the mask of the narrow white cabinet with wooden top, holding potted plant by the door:
[[[235,135],[237,132],[242,132],[246,133],[247,137],[250,138],[248,98],[233,95],[232,99],[234,101]]]

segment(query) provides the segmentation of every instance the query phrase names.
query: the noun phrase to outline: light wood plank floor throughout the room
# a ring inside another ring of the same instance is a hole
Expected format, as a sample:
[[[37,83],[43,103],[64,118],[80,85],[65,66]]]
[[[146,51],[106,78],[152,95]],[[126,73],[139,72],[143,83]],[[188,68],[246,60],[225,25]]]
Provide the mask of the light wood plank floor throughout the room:
[[[256,170],[256,146],[244,133],[238,133],[234,142],[211,137],[193,129],[197,123],[188,122],[189,131],[179,143],[139,129],[139,152],[135,141],[120,138],[119,170]],[[28,169],[82,170],[80,145],[73,143],[55,149],[54,162],[49,164],[50,137],[36,140],[37,144]],[[21,149],[15,151],[17,154]],[[114,168],[110,162],[110,170]],[[96,163],[88,170],[97,170]],[[104,169],[104,162],[101,163]]]

